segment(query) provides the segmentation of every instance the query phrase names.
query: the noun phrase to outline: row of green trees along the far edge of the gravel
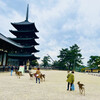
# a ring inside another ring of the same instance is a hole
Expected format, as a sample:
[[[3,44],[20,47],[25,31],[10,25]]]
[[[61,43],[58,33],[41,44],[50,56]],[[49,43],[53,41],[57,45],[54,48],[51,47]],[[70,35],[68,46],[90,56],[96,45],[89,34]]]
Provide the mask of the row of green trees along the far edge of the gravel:
[[[69,48],[61,49],[59,55],[57,56],[58,60],[51,62],[51,57],[49,55],[44,56],[42,59],[42,66],[52,67],[59,70],[80,70],[85,68],[83,65],[83,57],[81,54],[81,49],[77,44],[70,46]],[[87,66],[90,68],[98,68],[100,65],[100,56],[90,56],[87,61]]]

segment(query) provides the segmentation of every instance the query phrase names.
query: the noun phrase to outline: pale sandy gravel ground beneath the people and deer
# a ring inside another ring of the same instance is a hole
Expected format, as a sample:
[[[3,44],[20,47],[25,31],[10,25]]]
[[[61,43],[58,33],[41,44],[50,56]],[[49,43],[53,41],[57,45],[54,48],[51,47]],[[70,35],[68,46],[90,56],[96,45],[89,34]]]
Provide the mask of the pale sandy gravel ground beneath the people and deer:
[[[35,70],[32,70],[35,72]],[[100,100],[100,77],[75,72],[75,91],[66,90],[67,71],[41,70],[45,82],[36,83],[24,73],[0,72],[0,100]],[[85,96],[80,95],[77,81],[85,84]]]

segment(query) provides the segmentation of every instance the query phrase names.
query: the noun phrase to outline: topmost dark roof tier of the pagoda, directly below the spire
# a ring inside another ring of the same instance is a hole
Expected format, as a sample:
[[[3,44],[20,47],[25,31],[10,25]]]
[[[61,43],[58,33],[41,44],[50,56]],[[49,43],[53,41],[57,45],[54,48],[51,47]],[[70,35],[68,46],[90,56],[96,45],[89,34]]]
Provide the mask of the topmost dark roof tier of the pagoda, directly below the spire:
[[[39,32],[34,23],[30,23],[29,21],[23,21],[19,23],[11,23],[18,31],[25,30],[33,30],[34,32]]]

